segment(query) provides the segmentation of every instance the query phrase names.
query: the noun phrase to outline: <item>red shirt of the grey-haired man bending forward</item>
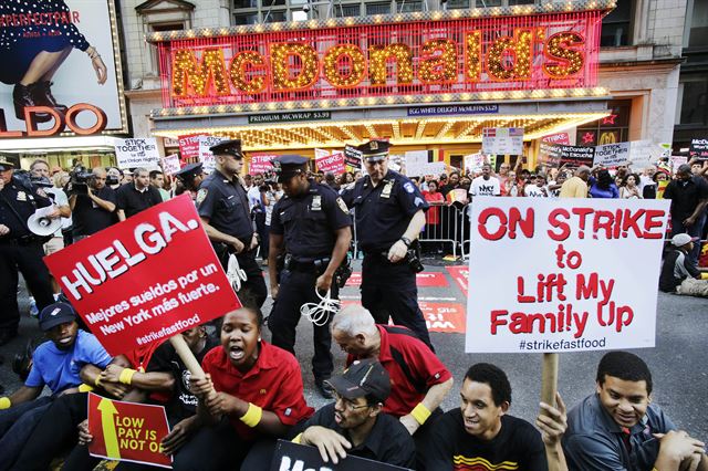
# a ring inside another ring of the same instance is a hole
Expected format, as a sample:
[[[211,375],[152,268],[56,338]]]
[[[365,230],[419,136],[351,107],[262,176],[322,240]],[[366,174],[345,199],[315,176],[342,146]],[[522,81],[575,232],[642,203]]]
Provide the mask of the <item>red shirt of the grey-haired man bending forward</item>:
[[[384,404],[384,412],[403,417],[423,400],[431,386],[439,385],[452,377],[442,362],[415,334],[399,325],[377,325],[381,334],[378,362],[391,376],[391,396]],[[400,362],[395,359],[398,356]],[[358,359],[350,355],[346,364]],[[415,383],[404,373],[403,363]]]

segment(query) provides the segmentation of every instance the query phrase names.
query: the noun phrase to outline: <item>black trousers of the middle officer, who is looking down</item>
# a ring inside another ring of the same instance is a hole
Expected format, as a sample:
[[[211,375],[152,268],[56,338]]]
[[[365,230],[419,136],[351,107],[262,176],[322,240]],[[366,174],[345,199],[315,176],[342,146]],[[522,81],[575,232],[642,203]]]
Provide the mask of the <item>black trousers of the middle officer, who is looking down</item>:
[[[278,299],[273,303],[273,308],[268,317],[268,326],[272,334],[271,343],[283,348],[293,355],[295,354],[295,328],[300,322],[300,306],[305,303],[320,302],[315,294],[315,282],[317,274],[314,271],[303,272],[299,270],[283,270],[280,274],[280,287]],[[337,299],[339,290],[333,283],[331,296]],[[322,326],[313,325],[314,356],[312,357],[312,373],[315,380],[327,379],[334,370],[332,359],[332,334],[330,323]]]

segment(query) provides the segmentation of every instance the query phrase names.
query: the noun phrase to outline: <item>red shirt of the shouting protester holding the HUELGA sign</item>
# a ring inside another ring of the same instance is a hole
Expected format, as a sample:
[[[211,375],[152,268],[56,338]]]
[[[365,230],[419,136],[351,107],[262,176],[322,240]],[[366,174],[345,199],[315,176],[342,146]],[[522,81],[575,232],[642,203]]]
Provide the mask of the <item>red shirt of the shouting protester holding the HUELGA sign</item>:
[[[205,355],[201,366],[211,375],[214,387],[219,393],[269,410],[287,426],[294,426],[314,412],[303,396],[300,364],[295,357],[281,348],[261,342],[261,352],[256,365],[247,373],[239,371],[229,360],[221,346]],[[253,440],[258,432],[246,426],[238,417],[230,417],[239,437]]]

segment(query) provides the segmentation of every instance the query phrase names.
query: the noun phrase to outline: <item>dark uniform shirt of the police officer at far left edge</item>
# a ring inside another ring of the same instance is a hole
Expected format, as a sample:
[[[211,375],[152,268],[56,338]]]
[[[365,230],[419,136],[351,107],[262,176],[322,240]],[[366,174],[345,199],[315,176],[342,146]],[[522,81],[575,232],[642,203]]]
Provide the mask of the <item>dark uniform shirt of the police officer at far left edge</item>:
[[[28,218],[38,208],[44,208],[51,203],[52,200],[39,193],[37,188],[28,188],[12,178],[0,190],[0,224],[10,229],[10,233],[0,237],[0,240],[34,236],[27,227]]]

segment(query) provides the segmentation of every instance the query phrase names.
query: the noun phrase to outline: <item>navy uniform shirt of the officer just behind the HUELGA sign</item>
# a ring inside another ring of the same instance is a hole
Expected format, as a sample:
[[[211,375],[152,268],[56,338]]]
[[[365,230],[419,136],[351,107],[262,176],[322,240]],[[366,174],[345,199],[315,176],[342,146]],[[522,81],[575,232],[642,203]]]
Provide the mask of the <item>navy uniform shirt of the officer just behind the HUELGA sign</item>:
[[[199,216],[209,219],[209,226],[248,244],[253,237],[246,190],[238,178],[230,181],[214,170],[197,192]]]

